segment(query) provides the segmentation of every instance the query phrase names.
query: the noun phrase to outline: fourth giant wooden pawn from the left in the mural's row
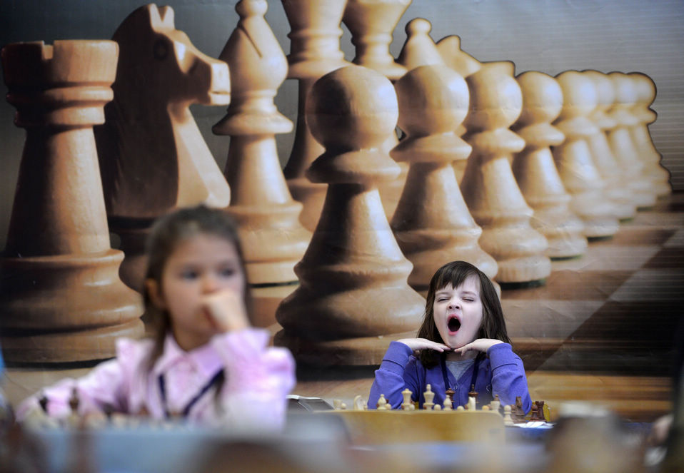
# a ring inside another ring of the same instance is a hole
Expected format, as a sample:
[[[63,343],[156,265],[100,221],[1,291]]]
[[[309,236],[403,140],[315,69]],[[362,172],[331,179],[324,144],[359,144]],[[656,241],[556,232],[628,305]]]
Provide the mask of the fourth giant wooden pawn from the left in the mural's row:
[[[583,255],[587,239],[584,225],[569,208],[570,195],[553,162],[549,146],[565,140],[550,123],[563,108],[563,91],[551,76],[528,71],[516,77],[523,93],[523,111],[512,130],[525,140],[525,148],[513,158],[513,176],[525,201],[534,210],[530,223],[548,240],[550,258]]]

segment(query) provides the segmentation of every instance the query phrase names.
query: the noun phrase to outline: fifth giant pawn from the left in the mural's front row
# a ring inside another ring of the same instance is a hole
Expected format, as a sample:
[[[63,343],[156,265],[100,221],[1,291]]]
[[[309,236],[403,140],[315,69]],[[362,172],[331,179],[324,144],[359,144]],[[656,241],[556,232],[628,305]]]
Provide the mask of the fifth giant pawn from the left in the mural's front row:
[[[618,231],[615,207],[604,195],[604,183],[591,156],[587,138],[598,131],[590,113],[598,105],[596,88],[578,71],[555,77],[563,90],[563,110],[553,123],[565,141],[553,147],[553,159],[565,190],[572,196],[570,208],[584,223],[587,238],[605,238]]]

